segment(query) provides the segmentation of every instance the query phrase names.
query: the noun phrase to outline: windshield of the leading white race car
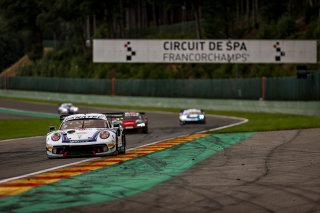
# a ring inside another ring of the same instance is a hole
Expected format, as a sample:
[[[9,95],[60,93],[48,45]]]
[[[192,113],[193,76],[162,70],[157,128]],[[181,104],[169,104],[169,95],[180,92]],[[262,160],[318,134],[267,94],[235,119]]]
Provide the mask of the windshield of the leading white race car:
[[[60,129],[108,128],[107,122],[101,119],[79,119],[63,122]]]

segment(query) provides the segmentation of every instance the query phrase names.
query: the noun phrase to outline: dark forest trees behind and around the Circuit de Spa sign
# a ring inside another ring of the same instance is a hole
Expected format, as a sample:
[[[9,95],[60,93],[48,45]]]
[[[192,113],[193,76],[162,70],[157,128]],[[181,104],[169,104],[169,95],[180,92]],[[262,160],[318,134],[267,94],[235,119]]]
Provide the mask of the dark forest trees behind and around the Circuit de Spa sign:
[[[318,39],[319,23],[319,0],[0,0],[0,70],[26,53],[34,66],[23,75],[127,78],[148,66],[92,64],[93,38]],[[55,51],[43,56],[47,40]],[[163,66],[168,77],[230,75],[229,65]]]

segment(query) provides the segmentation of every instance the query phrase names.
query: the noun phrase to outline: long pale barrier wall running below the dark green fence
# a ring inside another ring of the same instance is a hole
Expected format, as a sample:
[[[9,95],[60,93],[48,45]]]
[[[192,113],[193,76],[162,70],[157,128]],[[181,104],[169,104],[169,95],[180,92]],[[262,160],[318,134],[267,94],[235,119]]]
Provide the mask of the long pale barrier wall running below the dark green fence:
[[[107,95],[80,95],[33,91],[0,90],[0,97],[31,98],[86,104],[164,108],[201,108],[244,112],[268,112],[320,116],[320,101],[262,101],[187,98],[150,98]]]

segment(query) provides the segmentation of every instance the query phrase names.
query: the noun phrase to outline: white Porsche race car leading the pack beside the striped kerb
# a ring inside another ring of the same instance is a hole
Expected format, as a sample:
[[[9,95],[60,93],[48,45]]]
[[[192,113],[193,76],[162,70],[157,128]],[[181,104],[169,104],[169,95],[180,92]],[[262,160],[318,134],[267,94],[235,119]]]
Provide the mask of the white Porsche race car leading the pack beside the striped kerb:
[[[111,124],[114,116],[118,115],[90,113],[65,117],[58,130],[50,127],[47,134],[48,158],[124,154],[126,137],[121,126]]]

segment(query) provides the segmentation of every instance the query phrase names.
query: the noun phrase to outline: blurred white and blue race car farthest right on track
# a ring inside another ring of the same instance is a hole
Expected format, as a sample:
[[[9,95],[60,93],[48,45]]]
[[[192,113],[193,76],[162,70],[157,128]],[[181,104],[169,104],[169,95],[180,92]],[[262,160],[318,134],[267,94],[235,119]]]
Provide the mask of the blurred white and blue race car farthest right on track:
[[[201,109],[183,109],[179,114],[180,125],[186,123],[206,123],[206,115]]]

